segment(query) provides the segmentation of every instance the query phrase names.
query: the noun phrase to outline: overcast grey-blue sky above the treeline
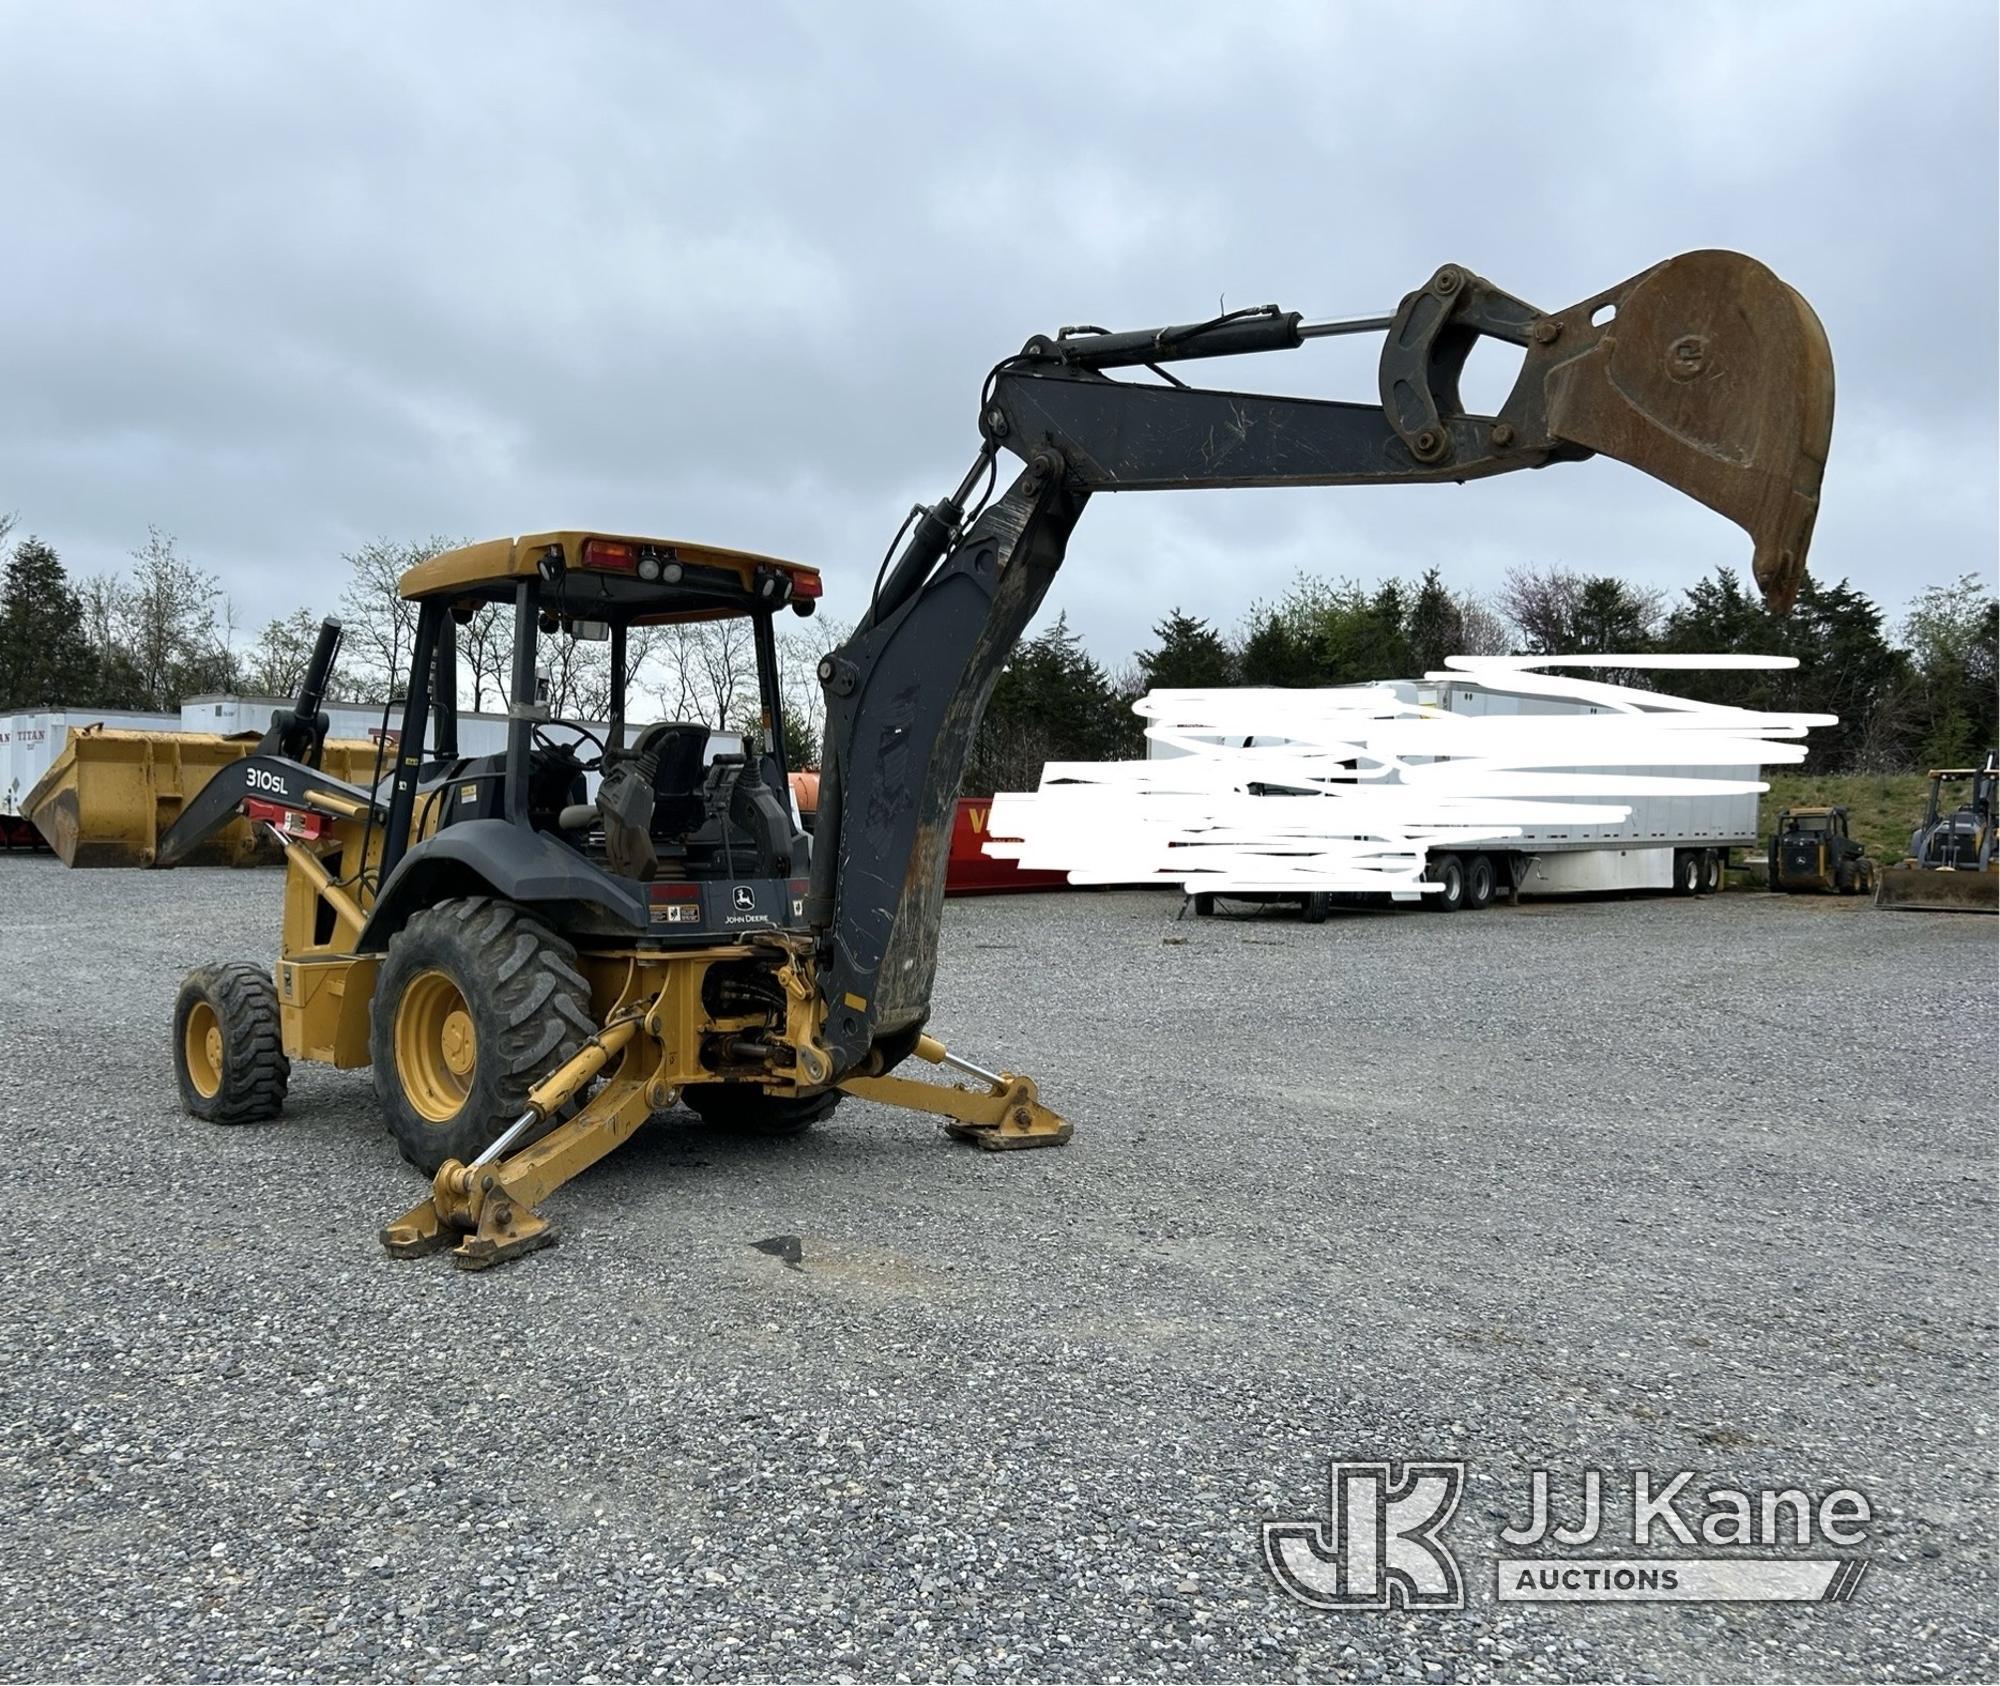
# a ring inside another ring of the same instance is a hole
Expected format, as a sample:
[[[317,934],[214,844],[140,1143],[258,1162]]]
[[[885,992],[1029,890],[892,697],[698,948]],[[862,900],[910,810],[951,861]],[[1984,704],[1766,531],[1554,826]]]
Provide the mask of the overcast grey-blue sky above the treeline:
[[[250,628],[368,538],[572,524],[816,562],[852,618],[1030,332],[1378,312],[1446,260],[1562,308],[1734,246],[1834,348],[1812,572],[1900,612],[1994,568],[1994,18],[0,0],[0,510],[76,574],[154,522]],[[1222,368],[1374,390],[1352,344]],[[1300,568],[1748,556],[1606,460],[1130,494],[1050,610],[1120,664]]]

